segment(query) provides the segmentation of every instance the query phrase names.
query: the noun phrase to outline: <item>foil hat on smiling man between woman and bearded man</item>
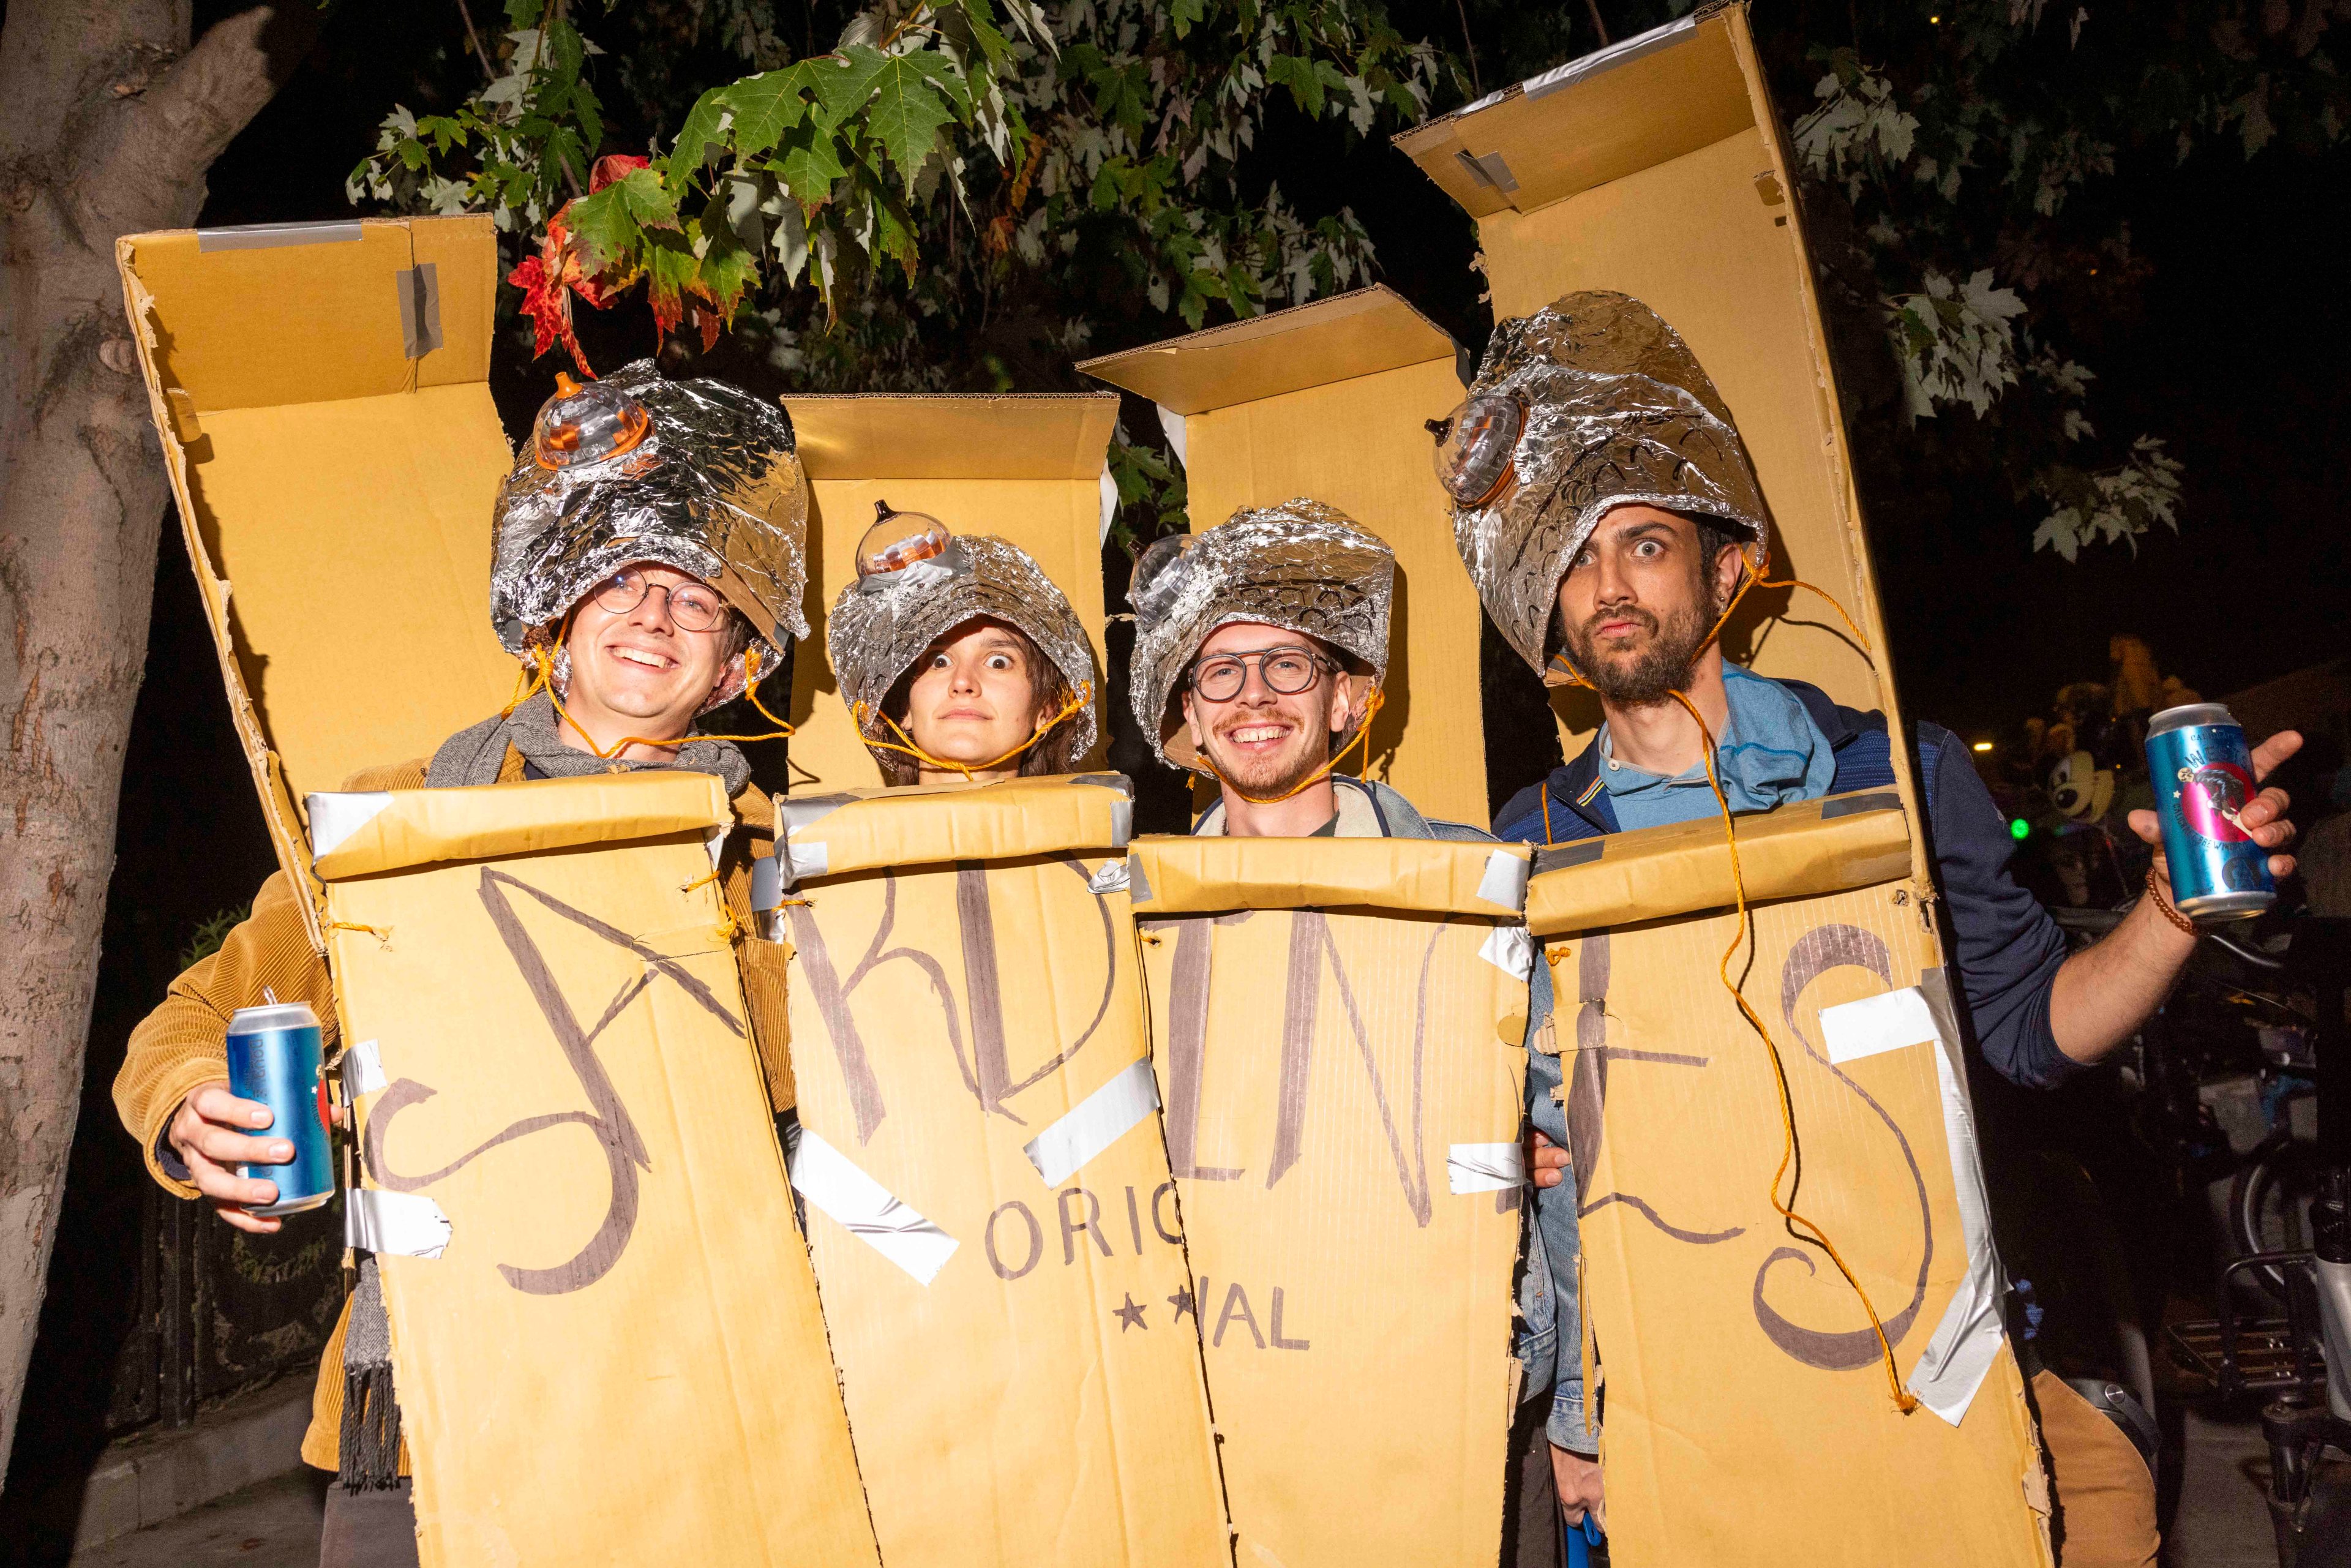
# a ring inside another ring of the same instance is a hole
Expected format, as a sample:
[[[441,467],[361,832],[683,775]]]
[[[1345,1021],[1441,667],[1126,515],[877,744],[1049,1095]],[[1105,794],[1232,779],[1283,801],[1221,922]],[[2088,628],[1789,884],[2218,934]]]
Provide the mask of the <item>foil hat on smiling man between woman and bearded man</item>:
[[[1387,607],[1396,552],[1335,505],[1284,501],[1241,508],[1201,534],[1171,534],[1136,562],[1136,656],[1128,689],[1136,724],[1168,766],[1197,769],[1176,691],[1220,625],[1262,621],[1328,642],[1387,679]],[[1371,705],[1331,738],[1331,755],[1354,738]]]

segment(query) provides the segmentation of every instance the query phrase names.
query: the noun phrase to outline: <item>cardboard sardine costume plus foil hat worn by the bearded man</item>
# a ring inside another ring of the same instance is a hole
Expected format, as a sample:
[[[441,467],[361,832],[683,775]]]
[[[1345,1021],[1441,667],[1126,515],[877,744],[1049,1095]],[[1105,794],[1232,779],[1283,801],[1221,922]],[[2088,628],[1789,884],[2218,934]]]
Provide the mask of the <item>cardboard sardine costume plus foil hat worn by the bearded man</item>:
[[[1853,628],[1754,590],[1726,644],[1761,675],[1886,712],[1900,736],[1794,172],[1744,7],[1399,143],[1479,219],[1502,320],[1439,428],[1441,473],[1462,559],[1531,670],[1568,691],[1559,581],[1608,505],[1643,501],[1721,520],[1749,567],[1848,609]],[[1570,752],[1596,717],[1563,696]],[[1721,818],[1538,856],[1528,929],[1554,1013],[1535,1044],[1563,1058],[1582,1232],[1585,1345],[1561,1356],[1582,1354],[1603,1392],[1610,1552],[1627,1568],[2050,1561],[1900,743],[1893,771],[1886,790],[1737,818],[1737,877]],[[1740,879],[1751,947],[1728,971],[1747,1011],[1723,983]],[[1791,1135],[1801,1182],[1782,1173],[1775,1190]],[[1784,1222],[1782,1204],[1813,1225]]]

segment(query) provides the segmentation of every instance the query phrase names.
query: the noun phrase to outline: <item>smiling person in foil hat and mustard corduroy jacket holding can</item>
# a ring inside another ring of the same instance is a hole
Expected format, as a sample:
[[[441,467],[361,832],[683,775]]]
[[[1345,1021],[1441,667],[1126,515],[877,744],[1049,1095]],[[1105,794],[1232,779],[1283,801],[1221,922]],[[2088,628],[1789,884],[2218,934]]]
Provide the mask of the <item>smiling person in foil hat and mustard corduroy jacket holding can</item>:
[[[806,635],[806,517],[781,409],[717,381],[665,381],[649,360],[585,388],[562,378],[491,515],[491,621],[524,661],[527,696],[444,741],[430,762],[364,769],[343,788],[717,773],[743,827],[722,851],[719,886],[736,924],[750,926],[750,863],[771,853],[773,811],[731,738],[701,736],[694,719],[773,670],[788,637]],[[256,1135],[266,1107],[228,1093],[228,1020],[263,999],[308,1001],[336,1046],[334,990],[303,898],[273,875],[252,917],[132,1032],[115,1079],[115,1107],[155,1180],[247,1232],[280,1227],[247,1213],[275,1187],[237,1166],[282,1154]],[[785,1020],[764,1016],[759,987],[750,997],[769,1095],[788,1110]],[[374,1258],[320,1363],[303,1458],[343,1476],[327,1493],[322,1566],[416,1561]]]

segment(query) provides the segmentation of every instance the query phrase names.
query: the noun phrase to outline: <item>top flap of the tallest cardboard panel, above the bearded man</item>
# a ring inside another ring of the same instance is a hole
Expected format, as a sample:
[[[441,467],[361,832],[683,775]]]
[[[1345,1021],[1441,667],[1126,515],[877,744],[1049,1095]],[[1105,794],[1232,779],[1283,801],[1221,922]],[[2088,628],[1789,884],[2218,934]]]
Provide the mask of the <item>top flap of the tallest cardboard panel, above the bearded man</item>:
[[[1683,16],[1573,59],[1396,146],[1469,216],[1535,212],[1754,125],[1721,16]]]

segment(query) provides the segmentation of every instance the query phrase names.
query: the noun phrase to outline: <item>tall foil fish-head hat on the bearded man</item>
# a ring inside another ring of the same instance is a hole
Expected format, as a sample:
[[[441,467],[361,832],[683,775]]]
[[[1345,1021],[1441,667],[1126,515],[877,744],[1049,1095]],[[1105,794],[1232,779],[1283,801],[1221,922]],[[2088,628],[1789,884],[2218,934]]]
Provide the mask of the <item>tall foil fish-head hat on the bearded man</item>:
[[[1697,355],[1625,294],[1566,294],[1493,329],[1469,400],[1434,421],[1453,545],[1486,614],[1547,682],[1559,583],[1613,505],[1704,512],[1770,557],[1747,447]]]

